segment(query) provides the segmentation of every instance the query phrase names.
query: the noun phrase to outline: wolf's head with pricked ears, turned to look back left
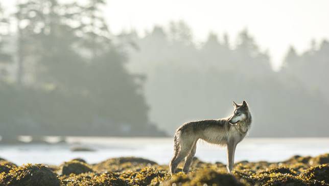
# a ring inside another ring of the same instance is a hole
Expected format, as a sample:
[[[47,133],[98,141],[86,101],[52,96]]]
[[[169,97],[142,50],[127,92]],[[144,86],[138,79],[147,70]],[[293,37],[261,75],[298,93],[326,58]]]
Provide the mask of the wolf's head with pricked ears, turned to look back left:
[[[233,102],[234,111],[232,117],[228,120],[230,124],[236,124],[242,122],[248,118],[249,108],[246,101],[243,101],[241,105]]]

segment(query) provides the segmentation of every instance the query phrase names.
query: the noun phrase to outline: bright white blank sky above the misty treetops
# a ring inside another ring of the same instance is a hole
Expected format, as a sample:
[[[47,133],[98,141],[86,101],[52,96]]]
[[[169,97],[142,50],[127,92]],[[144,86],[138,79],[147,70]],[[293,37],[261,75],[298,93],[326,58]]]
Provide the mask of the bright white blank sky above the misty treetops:
[[[15,3],[0,1],[8,8]],[[291,45],[302,53],[312,39],[320,43],[329,38],[328,8],[327,0],[108,0],[104,14],[113,34],[134,29],[143,36],[154,25],[183,20],[192,28],[196,43],[209,32],[220,38],[227,33],[233,47],[238,33],[248,29],[278,69]]]

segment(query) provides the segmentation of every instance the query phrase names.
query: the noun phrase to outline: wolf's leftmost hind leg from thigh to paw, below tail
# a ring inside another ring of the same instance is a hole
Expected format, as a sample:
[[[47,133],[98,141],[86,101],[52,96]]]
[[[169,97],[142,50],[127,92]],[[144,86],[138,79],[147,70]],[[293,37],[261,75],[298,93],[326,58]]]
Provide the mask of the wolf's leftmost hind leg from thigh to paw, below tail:
[[[175,148],[175,153],[170,161],[170,173],[175,174],[178,164],[190,153],[193,143],[184,143],[181,139],[179,148]]]

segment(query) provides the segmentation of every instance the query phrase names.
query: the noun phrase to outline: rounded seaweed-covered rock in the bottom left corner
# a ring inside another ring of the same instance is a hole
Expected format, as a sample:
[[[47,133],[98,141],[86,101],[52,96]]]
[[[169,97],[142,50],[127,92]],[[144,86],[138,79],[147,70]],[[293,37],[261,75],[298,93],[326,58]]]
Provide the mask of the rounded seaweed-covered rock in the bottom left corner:
[[[42,164],[27,164],[0,174],[0,185],[60,185],[57,175]]]

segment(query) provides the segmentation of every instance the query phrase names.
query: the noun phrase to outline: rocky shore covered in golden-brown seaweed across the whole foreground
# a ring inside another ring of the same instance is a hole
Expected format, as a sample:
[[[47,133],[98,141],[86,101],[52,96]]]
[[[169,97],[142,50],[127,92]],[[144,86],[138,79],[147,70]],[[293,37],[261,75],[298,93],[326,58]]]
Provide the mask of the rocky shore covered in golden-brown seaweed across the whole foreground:
[[[180,165],[179,167],[181,167]],[[171,176],[168,165],[137,158],[110,158],[98,164],[73,159],[59,166],[17,166],[0,158],[0,185],[327,185],[329,153],[315,157],[293,156],[282,162],[234,164],[227,174],[221,162],[210,164],[195,158],[191,172]]]

